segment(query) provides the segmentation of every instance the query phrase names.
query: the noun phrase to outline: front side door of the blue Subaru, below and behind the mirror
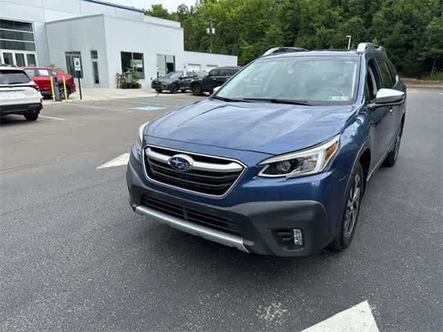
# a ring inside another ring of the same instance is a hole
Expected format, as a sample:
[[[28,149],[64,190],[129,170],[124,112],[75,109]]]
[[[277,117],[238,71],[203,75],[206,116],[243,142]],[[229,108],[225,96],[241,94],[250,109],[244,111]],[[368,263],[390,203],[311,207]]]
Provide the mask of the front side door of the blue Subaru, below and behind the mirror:
[[[381,77],[374,59],[367,64],[365,99],[370,120],[370,138],[372,140],[371,168],[377,167],[388,150],[388,130],[390,127],[390,107],[375,102],[377,91],[382,88]]]

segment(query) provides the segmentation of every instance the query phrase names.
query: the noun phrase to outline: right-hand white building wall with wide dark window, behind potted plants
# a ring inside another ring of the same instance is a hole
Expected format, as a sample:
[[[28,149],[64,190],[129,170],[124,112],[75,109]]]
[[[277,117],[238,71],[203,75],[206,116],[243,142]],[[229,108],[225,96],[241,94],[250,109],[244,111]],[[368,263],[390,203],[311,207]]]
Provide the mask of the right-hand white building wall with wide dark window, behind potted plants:
[[[149,87],[151,80],[156,77],[157,54],[174,55],[176,69],[183,68],[183,29],[178,22],[170,22],[162,19],[141,22],[105,17],[110,87],[116,87],[116,73],[122,71],[122,51],[143,53],[145,80],[140,80],[143,88]]]

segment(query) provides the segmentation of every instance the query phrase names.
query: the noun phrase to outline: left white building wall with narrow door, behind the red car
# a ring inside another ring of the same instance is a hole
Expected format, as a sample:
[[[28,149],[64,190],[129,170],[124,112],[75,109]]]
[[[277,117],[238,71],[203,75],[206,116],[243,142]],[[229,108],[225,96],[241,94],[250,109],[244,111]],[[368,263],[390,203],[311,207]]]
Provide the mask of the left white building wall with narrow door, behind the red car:
[[[51,62],[66,71],[66,52],[80,51],[82,86],[93,85],[91,50],[98,52],[98,74],[101,87],[109,87],[105,18],[92,15],[46,23]]]

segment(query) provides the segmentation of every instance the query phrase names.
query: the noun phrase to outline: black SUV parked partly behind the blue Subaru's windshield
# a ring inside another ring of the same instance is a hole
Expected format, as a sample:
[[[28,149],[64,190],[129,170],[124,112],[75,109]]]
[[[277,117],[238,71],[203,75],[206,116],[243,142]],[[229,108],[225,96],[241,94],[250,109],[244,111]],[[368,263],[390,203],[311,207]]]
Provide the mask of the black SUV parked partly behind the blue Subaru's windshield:
[[[213,68],[207,75],[196,77],[192,80],[190,82],[190,89],[194,95],[202,95],[204,92],[213,93],[215,87],[223,85],[240,68],[237,66]]]

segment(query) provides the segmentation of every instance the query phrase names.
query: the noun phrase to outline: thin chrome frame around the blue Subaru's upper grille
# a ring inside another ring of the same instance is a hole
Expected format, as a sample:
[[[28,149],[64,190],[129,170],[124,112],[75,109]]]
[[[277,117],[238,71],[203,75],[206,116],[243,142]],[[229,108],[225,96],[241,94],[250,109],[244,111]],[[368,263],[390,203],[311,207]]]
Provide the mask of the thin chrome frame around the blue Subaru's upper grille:
[[[229,161],[233,161],[235,163],[239,163],[239,165],[242,165],[243,171],[242,171],[242,173],[239,174],[239,176],[237,177],[237,180],[234,181],[234,183],[228,188],[228,190],[226,190],[226,192],[223,195],[213,195],[213,194],[205,194],[204,192],[195,192],[194,190],[188,190],[185,188],[176,187],[175,185],[169,185],[168,183],[163,183],[160,181],[156,181],[153,178],[150,178],[150,176],[147,174],[146,163],[145,163],[145,149],[147,147],[157,147],[159,149],[176,151],[181,154],[195,154],[197,156],[216,158],[216,159],[221,159],[221,160],[229,160]],[[152,145],[152,144],[147,144],[147,145],[143,146],[143,148],[141,149],[141,159],[142,159],[142,165],[143,165],[143,173],[145,174],[145,178],[147,178],[149,181],[152,181],[153,183],[156,183],[158,185],[164,185],[165,187],[170,187],[175,190],[181,190],[182,192],[188,192],[191,194],[197,194],[199,196],[210,197],[212,199],[223,199],[224,197],[228,196],[230,191],[233,190],[233,187],[235,187],[235,185],[237,185],[237,183],[239,183],[240,179],[243,177],[244,173],[246,172],[246,169],[248,169],[248,167],[244,163],[242,163],[240,160],[237,160],[237,159],[225,158],[225,157],[219,157],[219,156],[211,156],[210,154],[199,154],[199,153],[195,153],[195,152],[191,152],[191,151],[183,151],[183,150],[179,150],[179,149],[170,149],[168,147],[161,147],[159,145]]]

